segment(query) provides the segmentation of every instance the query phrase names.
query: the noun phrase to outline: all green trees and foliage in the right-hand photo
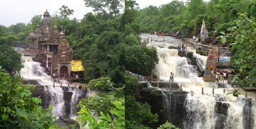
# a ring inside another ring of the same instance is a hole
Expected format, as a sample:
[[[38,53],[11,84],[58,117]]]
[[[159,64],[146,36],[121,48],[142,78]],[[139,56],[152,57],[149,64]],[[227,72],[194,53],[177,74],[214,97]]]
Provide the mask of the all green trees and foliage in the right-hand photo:
[[[249,84],[255,87],[255,16],[256,0],[173,0],[159,7],[150,5],[143,9],[138,7],[135,0],[125,0],[125,69],[149,76],[158,63],[156,50],[140,45],[140,33],[180,31],[180,37],[192,38],[200,32],[204,19],[209,35],[213,39],[217,39],[222,45],[229,43],[232,46],[231,63],[235,73],[233,80],[241,82],[238,83],[240,86]],[[136,101],[140,86],[136,82],[136,78],[125,76],[128,114],[126,128],[150,128],[148,126],[156,123],[158,116],[150,112],[148,104]],[[236,89],[229,94],[238,97],[240,93]],[[174,127],[171,123],[165,123],[159,129],[168,124],[169,127]]]

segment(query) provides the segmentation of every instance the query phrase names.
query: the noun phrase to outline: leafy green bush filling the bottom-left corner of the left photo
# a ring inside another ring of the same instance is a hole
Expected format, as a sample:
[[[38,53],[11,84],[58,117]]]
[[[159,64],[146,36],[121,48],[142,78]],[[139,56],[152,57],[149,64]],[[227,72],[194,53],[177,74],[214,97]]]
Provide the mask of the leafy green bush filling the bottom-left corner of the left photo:
[[[0,66],[1,69],[1,66]],[[40,98],[33,98],[34,85],[23,85],[16,74],[0,70],[0,127],[4,129],[58,129],[52,116],[53,108],[42,109]]]

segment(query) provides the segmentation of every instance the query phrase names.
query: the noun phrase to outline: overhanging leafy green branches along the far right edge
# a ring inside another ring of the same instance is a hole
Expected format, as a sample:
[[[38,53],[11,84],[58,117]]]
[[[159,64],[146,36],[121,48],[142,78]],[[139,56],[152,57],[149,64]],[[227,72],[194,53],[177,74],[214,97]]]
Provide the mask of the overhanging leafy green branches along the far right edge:
[[[256,20],[254,17],[248,18],[247,13],[238,13],[240,17],[234,21],[235,26],[229,27],[229,33],[221,32],[219,36],[222,43],[229,42],[232,45],[234,56],[231,58],[234,67],[234,80],[238,81],[238,86],[244,84],[256,87]],[[237,90],[232,92],[238,96]]]

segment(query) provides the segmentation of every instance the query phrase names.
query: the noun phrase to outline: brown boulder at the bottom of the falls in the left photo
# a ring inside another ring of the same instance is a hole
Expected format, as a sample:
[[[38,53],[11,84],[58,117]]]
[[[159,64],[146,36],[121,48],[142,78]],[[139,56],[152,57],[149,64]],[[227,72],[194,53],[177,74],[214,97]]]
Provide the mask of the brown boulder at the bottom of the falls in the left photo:
[[[80,125],[77,121],[71,119],[69,116],[67,115],[62,115],[60,116],[59,119],[57,119],[55,121],[56,125],[60,125],[61,127],[65,128],[65,129],[72,129],[72,125],[74,125],[76,123],[75,129],[78,128],[80,129]]]

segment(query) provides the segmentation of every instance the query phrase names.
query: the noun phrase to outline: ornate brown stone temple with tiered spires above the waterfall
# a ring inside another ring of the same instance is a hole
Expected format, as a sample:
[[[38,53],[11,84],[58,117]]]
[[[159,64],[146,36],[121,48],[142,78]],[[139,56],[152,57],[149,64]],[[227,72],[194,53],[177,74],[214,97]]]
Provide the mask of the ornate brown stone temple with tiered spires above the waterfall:
[[[70,76],[73,50],[65,36],[65,29],[59,33],[58,27],[54,25],[52,30],[52,20],[49,12],[44,12],[42,19],[42,29],[36,25],[36,29],[31,29],[28,35],[30,42],[30,53],[35,55],[35,60],[46,64],[47,70],[60,76]]]

